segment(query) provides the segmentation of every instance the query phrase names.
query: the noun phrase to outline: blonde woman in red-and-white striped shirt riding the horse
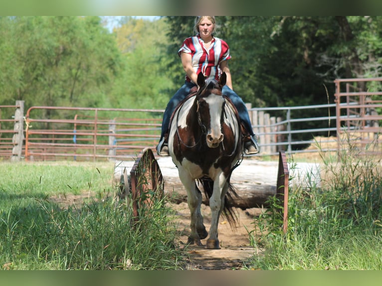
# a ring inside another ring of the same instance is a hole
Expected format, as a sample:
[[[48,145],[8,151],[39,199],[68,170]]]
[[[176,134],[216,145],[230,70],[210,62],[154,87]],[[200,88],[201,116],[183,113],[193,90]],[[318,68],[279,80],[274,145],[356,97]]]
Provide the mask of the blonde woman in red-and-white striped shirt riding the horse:
[[[244,143],[246,154],[256,154],[259,146],[256,136],[253,133],[252,125],[248,116],[248,110],[242,99],[232,90],[231,74],[228,68],[229,47],[225,41],[213,35],[215,31],[214,16],[197,16],[195,19],[194,30],[196,36],[189,37],[183,42],[178,55],[181,57],[183,68],[186,72],[185,84],[170,99],[163,115],[162,132],[157,153],[161,156],[168,156],[169,149],[167,136],[169,131],[170,118],[177,105],[185,99],[192,87],[197,86],[197,75],[202,72],[206,79],[218,80],[221,73],[225,72],[227,81],[222,88],[222,94],[228,96],[235,105],[241,123],[250,135],[249,141]]]

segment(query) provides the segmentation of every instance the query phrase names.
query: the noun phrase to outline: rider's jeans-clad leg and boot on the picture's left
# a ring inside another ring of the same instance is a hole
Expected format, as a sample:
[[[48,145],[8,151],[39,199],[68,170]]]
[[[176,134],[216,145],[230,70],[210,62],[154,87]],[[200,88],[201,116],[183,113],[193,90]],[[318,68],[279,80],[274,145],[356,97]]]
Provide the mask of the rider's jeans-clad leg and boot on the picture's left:
[[[178,106],[178,104],[184,100],[189,94],[192,87],[194,87],[195,84],[191,82],[186,82],[170,99],[169,103],[167,104],[165,113],[163,114],[163,121],[162,121],[162,130],[161,130],[161,138],[159,139],[159,143],[157,145],[157,153],[161,156],[168,156],[169,150],[167,147],[168,138],[166,134],[169,132],[169,124],[171,115],[173,114],[175,108]]]

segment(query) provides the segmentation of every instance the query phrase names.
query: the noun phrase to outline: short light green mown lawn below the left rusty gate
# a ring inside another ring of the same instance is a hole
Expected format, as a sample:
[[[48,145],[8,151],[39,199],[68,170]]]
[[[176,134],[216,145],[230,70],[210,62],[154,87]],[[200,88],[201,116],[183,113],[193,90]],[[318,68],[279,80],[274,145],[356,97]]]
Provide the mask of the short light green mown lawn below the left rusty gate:
[[[0,163],[0,211],[27,206],[36,198],[109,190],[113,174],[110,163]]]

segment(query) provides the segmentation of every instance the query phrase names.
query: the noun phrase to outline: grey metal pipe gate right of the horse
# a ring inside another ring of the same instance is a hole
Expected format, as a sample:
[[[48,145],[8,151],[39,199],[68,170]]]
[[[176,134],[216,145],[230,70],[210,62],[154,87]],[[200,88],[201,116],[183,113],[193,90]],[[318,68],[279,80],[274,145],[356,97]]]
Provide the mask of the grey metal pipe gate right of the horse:
[[[316,152],[317,148],[308,148],[315,145],[319,138],[321,151],[336,151],[332,146],[337,141],[332,138],[336,132],[336,115],[330,115],[336,104],[295,106],[295,107],[268,107],[249,108],[252,127],[259,139],[261,152],[255,156],[277,155],[279,151],[291,153]],[[311,111],[327,116],[311,117]],[[272,116],[263,120],[264,114],[277,114],[278,119]],[[305,116],[305,117],[304,117]],[[261,117],[261,118],[260,118]],[[310,128],[312,122],[322,122],[320,128]]]

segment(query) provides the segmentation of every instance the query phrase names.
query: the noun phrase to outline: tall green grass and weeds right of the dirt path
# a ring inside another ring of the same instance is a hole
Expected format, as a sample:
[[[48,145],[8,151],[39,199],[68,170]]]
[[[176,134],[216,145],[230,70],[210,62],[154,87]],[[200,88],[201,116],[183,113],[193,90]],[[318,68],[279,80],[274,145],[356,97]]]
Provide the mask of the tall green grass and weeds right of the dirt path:
[[[289,189],[287,234],[275,198],[255,219],[251,242],[264,252],[249,268],[382,269],[381,156],[364,155],[354,146],[344,146],[339,156],[321,156],[321,184],[308,174],[307,184]]]

